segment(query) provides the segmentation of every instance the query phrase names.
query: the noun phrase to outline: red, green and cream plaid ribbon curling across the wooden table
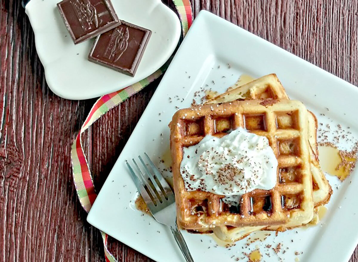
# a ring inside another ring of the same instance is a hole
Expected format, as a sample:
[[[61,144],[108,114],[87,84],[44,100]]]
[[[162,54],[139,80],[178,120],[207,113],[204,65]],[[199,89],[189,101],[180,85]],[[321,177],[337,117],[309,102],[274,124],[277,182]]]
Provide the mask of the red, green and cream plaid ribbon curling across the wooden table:
[[[193,14],[190,0],[173,0],[173,2],[179,14],[179,19],[182,24],[182,31],[184,37],[193,22]],[[95,202],[97,194],[95,192],[95,186],[93,185],[91,171],[89,171],[87,158],[86,155],[84,155],[84,151],[82,148],[81,135],[84,131],[87,130],[88,127],[90,127],[102,115],[107,113],[111,108],[118,106],[127,98],[139,92],[149,83],[153,82],[161,74],[163,74],[166,68],[168,68],[170,60],[171,59],[169,59],[168,62],[166,62],[156,72],[151,74],[149,77],[139,81],[138,83],[132,84],[129,87],[100,97],[91,108],[91,111],[89,112],[86,121],[84,121],[81,130],[79,131],[71,148],[73,181],[77,190],[79,202],[87,213],[91,209],[93,202]],[[108,251],[108,235],[102,231],[101,234],[103,239],[106,261],[117,262],[113,255],[110,253],[110,251]]]

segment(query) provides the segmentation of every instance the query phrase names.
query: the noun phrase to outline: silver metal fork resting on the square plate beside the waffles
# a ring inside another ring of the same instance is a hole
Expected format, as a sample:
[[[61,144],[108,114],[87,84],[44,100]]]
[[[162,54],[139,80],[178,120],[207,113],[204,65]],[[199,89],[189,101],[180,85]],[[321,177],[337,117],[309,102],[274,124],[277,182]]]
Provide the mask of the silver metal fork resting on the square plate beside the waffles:
[[[176,225],[176,208],[173,190],[171,190],[170,186],[163,178],[163,175],[160,174],[149,156],[146,153],[144,153],[144,155],[148,160],[150,168],[145,164],[141,156],[138,157],[142,164],[142,169],[139,168],[134,159],[132,159],[135,167],[134,169],[126,161],[134,183],[155,220],[170,228],[186,261],[194,262],[182,233],[180,233],[178,226]]]

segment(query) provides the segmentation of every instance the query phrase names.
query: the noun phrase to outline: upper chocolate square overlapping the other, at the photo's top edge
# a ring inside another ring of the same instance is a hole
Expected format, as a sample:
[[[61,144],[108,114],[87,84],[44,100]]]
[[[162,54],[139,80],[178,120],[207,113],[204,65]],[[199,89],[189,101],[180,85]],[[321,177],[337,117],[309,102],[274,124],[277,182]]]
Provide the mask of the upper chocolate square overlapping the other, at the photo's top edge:
[[[110,0],[63,0],[57,7],[75,44],[121,24]]]

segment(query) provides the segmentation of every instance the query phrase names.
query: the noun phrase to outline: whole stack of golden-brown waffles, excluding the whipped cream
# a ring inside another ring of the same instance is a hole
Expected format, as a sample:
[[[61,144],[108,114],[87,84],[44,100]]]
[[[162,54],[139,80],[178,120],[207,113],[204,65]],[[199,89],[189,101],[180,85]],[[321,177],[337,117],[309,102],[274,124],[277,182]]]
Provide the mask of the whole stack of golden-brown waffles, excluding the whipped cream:
[[[222,195],[185,190],[180,174],[183,147],[198,144],[205,135],[222,137],[238,127],[269,140],[278,162],[276,186],[243,194],[236,206],[224,203]],[[317,222],[317,208],[330,199],[332,189],[318,162],[316,117],[303,103],[289,100],[275,74],[204,105],[179,110],[170,131],[181,228],[212,231],[223,241],[234,242],[257,230],[285,231]]]

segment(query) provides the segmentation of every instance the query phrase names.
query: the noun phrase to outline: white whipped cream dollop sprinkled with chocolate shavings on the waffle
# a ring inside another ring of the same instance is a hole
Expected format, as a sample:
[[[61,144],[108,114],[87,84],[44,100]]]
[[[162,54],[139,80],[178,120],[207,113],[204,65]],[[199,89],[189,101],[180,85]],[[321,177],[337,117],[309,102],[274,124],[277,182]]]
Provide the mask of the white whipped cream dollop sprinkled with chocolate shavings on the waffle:
[[[225,195],[228,202],[237,202],[254,189],[274,188],[276,172],[277,159],[267,137],[241,127],[221,138],[205,136],[199,144],[185,147],[180,164],[187,191]]]

